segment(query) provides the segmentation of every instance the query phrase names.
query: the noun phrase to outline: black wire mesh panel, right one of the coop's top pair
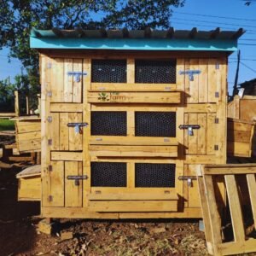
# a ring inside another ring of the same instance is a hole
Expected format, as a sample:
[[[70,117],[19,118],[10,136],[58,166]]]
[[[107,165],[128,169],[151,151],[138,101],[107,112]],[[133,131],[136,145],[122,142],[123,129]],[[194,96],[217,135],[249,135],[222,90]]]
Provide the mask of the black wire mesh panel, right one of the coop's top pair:
[[[135,61],[135,83],[175,84],[176,60]]]

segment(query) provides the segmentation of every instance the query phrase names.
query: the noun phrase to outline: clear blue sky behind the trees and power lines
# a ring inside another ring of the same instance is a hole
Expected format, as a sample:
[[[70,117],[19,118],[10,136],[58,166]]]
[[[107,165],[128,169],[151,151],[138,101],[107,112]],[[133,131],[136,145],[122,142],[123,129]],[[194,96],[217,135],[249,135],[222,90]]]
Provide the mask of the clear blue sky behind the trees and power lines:
[[[175,29],[191,29],[194,26],[199,30],[212,30],[217,26],[222,30],[245,28],[247,32],[238,41],[241,49],[238,79],[240,83],[256,78],[256,1],[250,6],[244,3],[244,0],[186,0],[183,8],[173,9],[174,13],[171,17]],[[8,53],[9,49],[0,51],[0,79],[8,76],[13,79],[15,74],[20,73],[20,61],[12,59],[9,63]],[[229,90],[235,80],[236,55],[236,53],[230,55]]]

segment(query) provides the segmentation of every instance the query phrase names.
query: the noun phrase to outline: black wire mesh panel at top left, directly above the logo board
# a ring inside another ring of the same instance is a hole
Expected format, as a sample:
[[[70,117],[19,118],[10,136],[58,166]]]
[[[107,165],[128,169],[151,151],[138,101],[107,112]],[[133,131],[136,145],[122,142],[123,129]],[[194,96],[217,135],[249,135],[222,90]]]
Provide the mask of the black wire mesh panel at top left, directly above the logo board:
[[[91,81],[126,83],[126,60],[92,60]]]

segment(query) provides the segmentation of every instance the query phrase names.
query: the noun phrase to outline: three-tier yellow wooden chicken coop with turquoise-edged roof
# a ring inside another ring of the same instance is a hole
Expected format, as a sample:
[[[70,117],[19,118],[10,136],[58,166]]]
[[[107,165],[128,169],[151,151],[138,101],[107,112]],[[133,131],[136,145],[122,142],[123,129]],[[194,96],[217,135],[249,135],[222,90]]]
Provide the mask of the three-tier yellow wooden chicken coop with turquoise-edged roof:
[[[42,215],[201,218],[195,171],[226,164],[227,58],[242,33],[33,29]]]

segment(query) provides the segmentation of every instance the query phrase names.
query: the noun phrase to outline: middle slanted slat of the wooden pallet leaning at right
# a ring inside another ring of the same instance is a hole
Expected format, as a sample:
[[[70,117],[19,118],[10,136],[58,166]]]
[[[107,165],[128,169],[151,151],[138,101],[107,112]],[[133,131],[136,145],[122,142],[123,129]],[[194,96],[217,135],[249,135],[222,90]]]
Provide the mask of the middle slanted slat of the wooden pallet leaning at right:
[[[229,198],[230,215],[235,241],[245,241],[245,230],[241,215],[241,204],[236,187],[235,175],[225,175],[225,184]],[[255,192],[255,191],[254,191]]]

